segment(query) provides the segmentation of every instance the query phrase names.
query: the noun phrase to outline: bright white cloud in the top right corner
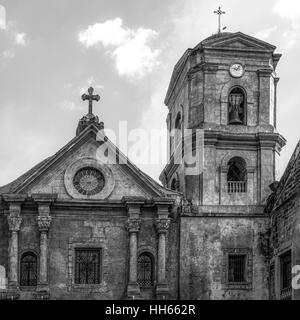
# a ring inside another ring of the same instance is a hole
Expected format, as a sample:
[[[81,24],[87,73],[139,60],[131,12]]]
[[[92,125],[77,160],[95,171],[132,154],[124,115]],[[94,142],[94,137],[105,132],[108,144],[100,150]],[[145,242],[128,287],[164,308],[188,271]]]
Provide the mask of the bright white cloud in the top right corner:
[[[277,0],[274,12],[279,16],[290,19],[294,28],[300,28],[300,1]]]

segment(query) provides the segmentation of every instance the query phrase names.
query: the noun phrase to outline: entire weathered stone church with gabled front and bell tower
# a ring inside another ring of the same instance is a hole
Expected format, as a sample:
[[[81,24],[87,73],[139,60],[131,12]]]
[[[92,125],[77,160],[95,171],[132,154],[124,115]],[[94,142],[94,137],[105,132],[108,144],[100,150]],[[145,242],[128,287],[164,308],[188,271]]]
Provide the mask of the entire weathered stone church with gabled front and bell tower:
[[[237,32],[184,53],[162,185],[105,136],[89,89],[76,137],[0,188],[0,297],[299,299],[300,152],[276,182],[275,49]],[[186,129],[191,155],[201,133],[197,170],[184,148],[176,161]]]

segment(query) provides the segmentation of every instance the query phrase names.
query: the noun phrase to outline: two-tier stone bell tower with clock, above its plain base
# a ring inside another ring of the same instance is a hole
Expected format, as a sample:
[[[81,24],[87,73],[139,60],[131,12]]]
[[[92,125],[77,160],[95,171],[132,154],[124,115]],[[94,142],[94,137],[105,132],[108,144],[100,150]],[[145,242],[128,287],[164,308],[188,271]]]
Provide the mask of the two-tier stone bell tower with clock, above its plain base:
[[[167,127],[203,133],[203,168],[187,174],[184,161],[174,161],[178,139],[170,139],[160,179],[193,205],[256,211],[265,204],[285,145],[276,130],[281,55],[275,49],[241,32],[220,32],[186,50],[175,65],[165,98]]]

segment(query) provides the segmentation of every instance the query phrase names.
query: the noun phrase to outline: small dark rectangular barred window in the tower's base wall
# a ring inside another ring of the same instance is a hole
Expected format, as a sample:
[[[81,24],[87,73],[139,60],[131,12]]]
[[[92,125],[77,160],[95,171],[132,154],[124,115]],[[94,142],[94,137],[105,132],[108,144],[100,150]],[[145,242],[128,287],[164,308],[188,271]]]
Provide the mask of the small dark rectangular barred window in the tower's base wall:
[[[246,282],[246,258],[241,254],[228,256],[228,282]]]

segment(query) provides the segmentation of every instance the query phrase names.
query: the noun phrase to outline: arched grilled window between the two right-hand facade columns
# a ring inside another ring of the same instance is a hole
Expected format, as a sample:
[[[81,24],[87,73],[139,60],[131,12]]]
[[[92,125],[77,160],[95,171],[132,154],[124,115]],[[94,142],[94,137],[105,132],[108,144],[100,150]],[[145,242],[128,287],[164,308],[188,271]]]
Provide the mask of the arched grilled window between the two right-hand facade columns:
[[[153,257],[149,253],[142,253],[138,257],[138,276],[139,286],[149,288],[153,286],[154,270]]]

